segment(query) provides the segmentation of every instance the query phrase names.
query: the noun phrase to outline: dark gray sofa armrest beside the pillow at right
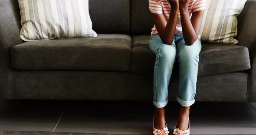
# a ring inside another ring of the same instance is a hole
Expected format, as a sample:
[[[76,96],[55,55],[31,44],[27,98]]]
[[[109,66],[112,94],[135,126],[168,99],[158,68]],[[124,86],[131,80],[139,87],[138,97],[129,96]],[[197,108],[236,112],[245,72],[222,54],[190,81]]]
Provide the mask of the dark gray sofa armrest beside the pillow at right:
[[[256,102],[256,0],[247,0],[238,16],[238,39],[240,46],[249,49],[250,64],[246,101]]]

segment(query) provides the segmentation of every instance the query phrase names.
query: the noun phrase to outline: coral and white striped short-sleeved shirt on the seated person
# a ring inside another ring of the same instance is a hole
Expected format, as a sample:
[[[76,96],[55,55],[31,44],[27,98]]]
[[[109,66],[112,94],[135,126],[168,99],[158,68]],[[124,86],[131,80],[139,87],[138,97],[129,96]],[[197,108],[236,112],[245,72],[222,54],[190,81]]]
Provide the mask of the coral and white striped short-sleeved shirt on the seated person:
[[[193,12],[204,10],[205,7],[206,0],[190,0],[188,5],[188,12],[190,17],[192,16]],[[168,20],[171,11],[171,5],[167,0],[149,0],[149,10],[151,11],[151,13],[163,13],[165,19]],[[151,30],[151,35],[158,34],[155,25]],[[178,19],[175,34],[182,35],[180,10],[178,11]]]

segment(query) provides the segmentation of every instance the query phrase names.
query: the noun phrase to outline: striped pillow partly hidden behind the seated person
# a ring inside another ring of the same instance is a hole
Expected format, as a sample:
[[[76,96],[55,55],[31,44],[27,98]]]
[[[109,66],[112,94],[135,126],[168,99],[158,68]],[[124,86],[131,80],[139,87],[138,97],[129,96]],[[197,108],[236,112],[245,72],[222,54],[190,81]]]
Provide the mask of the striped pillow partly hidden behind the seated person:
[[[237,35],[236,16],[246,0],[207,0],[200,30],[202,42],[233,43]]]

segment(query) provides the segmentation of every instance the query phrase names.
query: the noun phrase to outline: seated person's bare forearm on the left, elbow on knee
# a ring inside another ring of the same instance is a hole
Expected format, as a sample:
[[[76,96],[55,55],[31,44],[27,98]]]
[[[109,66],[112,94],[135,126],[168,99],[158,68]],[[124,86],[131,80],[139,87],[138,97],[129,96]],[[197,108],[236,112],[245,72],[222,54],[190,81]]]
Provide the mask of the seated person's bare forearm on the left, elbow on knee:
[[[170,17],[160,37],[165,44],[171,45],[174,40],[175,29],[177,25],[178,10],[171,10]]]

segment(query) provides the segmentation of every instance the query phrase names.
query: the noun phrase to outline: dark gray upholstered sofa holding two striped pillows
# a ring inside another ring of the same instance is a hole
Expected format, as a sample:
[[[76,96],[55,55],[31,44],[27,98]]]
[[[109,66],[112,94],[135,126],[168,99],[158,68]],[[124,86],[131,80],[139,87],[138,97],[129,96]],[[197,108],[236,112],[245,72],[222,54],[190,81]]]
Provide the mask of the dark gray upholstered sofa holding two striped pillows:
[[[17,0],[0,0],[0,98],[152,100],[148,0],[89,0],[93,39],[23,42]],[[202,43],[196,101],[256,102],[256,0],[238,16],[239,44]],[[169,100],[175,100],[174,64]]]

